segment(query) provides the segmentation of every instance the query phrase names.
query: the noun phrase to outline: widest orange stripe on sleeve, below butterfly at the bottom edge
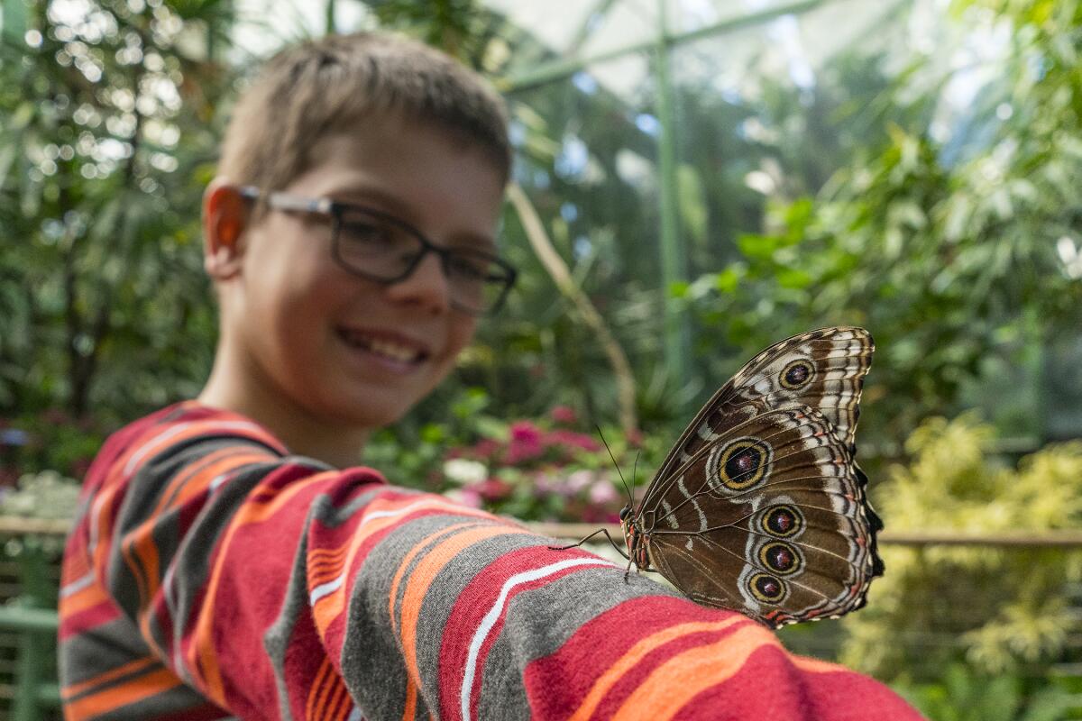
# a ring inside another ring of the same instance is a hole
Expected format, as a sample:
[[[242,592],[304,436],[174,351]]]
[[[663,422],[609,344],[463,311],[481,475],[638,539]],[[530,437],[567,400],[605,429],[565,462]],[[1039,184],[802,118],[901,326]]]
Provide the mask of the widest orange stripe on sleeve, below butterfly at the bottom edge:
[[[780,649],[781,644],[770,631],[752,624],[716,643],[673,656],[650,672],[612,718],[671,719],[697,695],[736,676],[748,657],[763,647]]]

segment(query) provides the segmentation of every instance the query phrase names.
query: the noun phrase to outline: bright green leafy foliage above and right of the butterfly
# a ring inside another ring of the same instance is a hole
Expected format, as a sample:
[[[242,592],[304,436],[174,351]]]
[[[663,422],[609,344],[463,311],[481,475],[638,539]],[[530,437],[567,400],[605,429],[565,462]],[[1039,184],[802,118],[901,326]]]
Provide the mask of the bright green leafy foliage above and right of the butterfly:
[[[960,8],[956,22],[1011,35],[982,61],[975,103],[949,109],[941,89],[978,80],[940,70],[938,54],[914,57],[846,120],[872,116],[888,132],[814,198],[777,193],[764,230],[740,237],[740,256],[689,293],[701,322],[743,352],[816,325],[869,328],[880,351],[865,438],[953,414],[990,361],[1016,363],[1082,325],[1082,266],[1070,259],[1082,242],[1082,10],[976,4],[994,12]]]

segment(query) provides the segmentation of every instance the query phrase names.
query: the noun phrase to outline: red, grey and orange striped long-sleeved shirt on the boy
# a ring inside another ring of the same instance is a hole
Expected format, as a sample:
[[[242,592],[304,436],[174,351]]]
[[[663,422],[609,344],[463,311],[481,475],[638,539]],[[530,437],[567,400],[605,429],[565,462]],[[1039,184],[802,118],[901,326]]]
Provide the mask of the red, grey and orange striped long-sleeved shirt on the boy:
[[[61,590],[75,719],[920,717],[736,613],[185,402],[109,438]]]

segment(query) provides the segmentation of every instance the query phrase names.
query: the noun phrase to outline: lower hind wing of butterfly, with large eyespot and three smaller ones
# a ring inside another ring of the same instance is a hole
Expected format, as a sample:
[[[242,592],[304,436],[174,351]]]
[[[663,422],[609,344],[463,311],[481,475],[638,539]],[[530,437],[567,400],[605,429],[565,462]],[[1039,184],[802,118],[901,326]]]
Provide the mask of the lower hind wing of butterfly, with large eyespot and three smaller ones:
[[[866,483],[822,413],[767,411],[704,445],[638,521],[684,593],[777,627],[863,605],[882,573]]]

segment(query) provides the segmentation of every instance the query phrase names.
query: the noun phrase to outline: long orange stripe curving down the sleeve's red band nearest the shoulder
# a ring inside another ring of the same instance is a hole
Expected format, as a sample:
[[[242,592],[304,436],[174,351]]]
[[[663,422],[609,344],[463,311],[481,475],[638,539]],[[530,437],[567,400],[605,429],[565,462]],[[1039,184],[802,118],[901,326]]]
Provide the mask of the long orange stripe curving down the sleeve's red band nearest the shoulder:
[[[214,650],[214,637],[212,632],[214,624],[214,602],[219,583],[224,573],[226,552],[233,536],[245,525],[265,521],[274,516],[282,506],[288,504],[295,495],[305,491],[313,482],[318,482],[329,477],[338,475],[339,471],[329,470],[307,479],[299,480],[280,489],[268,502],[249,499],[236,512],[226,529],[225,536],[219,542],[222,552],[214,560],[214,568],[211,570],[211,577],[207,584],[207,596],[199,616],[196,619],[195,628],[192,632],[192,644],[185,653],[189,668],[197,670],[207,686],[206,694],[211,700],[220,706],[225,706],[225,690],[222,686],[222,673],[217,667],[217,659]]]

